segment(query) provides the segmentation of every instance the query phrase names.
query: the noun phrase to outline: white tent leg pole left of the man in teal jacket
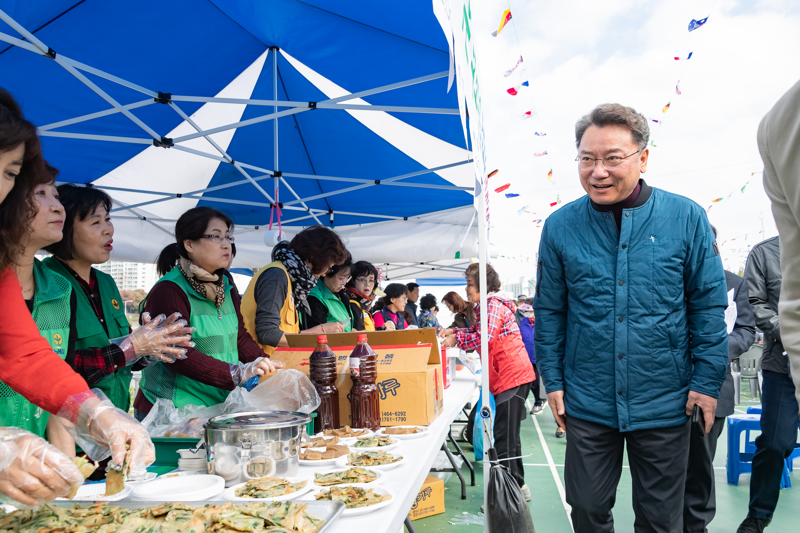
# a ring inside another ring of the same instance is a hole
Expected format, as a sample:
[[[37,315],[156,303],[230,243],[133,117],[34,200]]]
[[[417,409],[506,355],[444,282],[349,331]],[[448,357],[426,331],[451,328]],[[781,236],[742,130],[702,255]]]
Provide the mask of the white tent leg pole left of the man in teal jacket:
[[[481,189],[486,189],[486,179],[482,177],[483,186]],[[480,277],[479,288],[481,291],[481,404],[490,408],[490,392],[489,392],[489,328],[487,327],[486,316],[486,261],[489,255],[486,250],[486,194],[483,191],[475,191],[478,193],[478,218],[480,219],[478,225],[478,276]],[[480,413],[478,413],[480,416]],[[494,420],[494,413],[490,420]],[[483,424],[481,424],[481,428]],[[493,428],[494,432],[494,428]],[[483,518],[483,531],[489,531],[489,472],[491,463],[489,463],[489,448],[491,444],[489,436],[483,432],[483,505],[484,505],[484,518]]]

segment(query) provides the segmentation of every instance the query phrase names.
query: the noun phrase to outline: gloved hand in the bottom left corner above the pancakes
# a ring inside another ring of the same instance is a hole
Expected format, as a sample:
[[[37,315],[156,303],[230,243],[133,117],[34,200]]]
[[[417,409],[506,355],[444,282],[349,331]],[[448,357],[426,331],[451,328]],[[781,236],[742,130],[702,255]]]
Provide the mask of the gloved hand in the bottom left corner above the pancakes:
[[[72,460],[20,428],[0,428],[0,502],[39,505],[83,484]]]

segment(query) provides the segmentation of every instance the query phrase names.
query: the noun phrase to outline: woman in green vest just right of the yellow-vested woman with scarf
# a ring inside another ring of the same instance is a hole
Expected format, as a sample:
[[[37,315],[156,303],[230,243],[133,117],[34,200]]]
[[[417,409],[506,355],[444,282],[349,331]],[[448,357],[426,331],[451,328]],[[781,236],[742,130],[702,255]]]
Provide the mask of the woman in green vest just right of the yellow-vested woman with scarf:
[[[350,310],[350,296],[344,288],[350,281],[350,266],[353,258],[348,253],[342,265],[334,265],[330,272],[319,278],[319,281],[308,294],[310,312],[302,308],[303,325],[313,328],[318,324],[338,322],[344,331],[353,331],[353,313]]]

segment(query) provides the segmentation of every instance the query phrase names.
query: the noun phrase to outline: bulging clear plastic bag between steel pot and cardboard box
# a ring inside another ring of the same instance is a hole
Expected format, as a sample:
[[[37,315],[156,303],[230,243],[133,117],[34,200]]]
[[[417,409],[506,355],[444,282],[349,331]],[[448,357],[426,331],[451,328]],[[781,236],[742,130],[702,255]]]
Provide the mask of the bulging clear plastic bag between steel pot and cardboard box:
[[[226,413],[245,411],[313,412],[319,407],[317,389],[308,377],[294,368],[282,368],[257,387],[247,392],[237,387],[225,400]]]

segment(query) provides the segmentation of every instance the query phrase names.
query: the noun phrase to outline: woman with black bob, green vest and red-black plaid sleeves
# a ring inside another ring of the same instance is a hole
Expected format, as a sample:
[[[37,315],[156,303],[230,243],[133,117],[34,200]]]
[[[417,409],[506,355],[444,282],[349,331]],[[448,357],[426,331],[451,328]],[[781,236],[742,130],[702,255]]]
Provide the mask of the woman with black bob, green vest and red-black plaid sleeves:
[[[86,383],[99,388],[114,406],[128,412],[131,371],[144,368],[150,358],[123,352],[111,341],[129,336],[130,322],[114,278],[92,268],[108,261],[113,249],[111,198],[100,189],[72,184],[59,185],[57,190],[65,209],[63,238],[45,247],[53,257],[47,257],[42,264],[70,282],[77,300],[76,360],[82,352],[85,356],[83,364],[74,367]],[[165,349],[175,356],[186,352],[182,348]]]

